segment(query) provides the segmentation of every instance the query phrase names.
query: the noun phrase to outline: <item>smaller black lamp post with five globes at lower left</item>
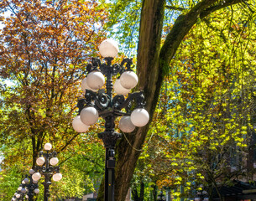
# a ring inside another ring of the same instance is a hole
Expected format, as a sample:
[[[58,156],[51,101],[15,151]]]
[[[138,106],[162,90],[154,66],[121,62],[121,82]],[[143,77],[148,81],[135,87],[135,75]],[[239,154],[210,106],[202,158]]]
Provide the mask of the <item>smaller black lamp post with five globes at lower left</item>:
[[[39,157],[36,160],[37,166],[34,167],[34,173],[32,174],[32,179],[36,182],[39,181],[42,175],[44,176],[44,201],[48,201],[50,196],[50,179],[53,178],[55,182],[58,182],[62,178],[60,167],[56,166],[59,162],[57,152],[50,152],[51,148],[52,146],[50,143],[44,145],[44,150],[46,152],[39,152]],[[36,188],[34,193],[39,193],[39,188]]]

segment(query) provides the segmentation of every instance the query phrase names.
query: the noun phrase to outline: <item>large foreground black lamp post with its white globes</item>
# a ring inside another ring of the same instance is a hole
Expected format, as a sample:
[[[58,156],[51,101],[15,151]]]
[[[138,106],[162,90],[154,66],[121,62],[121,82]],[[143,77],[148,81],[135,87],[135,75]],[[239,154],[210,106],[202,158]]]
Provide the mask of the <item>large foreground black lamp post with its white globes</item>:
[[[92,58],[91,64],[86,66],[88,75],[82,80],[85,98],[78,101],[79,115],[72,121],[72,126],[75,131],[85,132],[97,122],[99,116],[105,120],[105,131],[98,133],[106,148],[104,200],[114,201],[115,146],[121,137],[115,131],[114,121],[118,116],[123,116],[119,121],[119,128],[123,132],[131,132],[135,126],[145,126],[148,123],[149,113],[144,110],[143,91],[128,94],[138,83],[138,76],[131,69],[132,59],[112,64],[112,59],[118,54],[118,44],[110,39],[100,44],[99,51],[105,63]],[[106,90],[101,89],[105,84],[104,75],[107,77]],[[113,75],[120,75],[114,85]],[[112,90],[117,93],[114,97]],[[127,98],[124,95],[128,95]]]

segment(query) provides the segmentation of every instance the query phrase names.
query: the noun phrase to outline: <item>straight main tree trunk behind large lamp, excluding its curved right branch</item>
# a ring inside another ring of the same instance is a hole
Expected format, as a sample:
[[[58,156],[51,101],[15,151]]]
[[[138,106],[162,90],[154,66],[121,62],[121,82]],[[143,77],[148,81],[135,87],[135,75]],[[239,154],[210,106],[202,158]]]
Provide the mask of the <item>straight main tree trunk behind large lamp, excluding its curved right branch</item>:
[[[165,15],[164,0],[145,0],[142,7],[140,35],[138,43],[138,90],[144,90],[146,110],[152,119],[158,101],[159,90],[163,80],[159,72],[160,39]],[[128,141],[122,139],[117,147],[115,200],[123,201],[134,168],[143,147],[149,124],[127,135]],[[131,145],[132,146],[131,146]]]

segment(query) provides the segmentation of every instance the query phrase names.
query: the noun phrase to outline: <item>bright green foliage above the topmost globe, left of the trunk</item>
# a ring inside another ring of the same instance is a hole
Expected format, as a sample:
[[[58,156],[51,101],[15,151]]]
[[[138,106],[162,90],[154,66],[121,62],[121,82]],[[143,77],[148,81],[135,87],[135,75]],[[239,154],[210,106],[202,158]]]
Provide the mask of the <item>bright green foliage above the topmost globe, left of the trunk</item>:
[[[108,8],[107,37],[118,41],[124,55],[136,57],[141,2],[102,0],[102,5]]]

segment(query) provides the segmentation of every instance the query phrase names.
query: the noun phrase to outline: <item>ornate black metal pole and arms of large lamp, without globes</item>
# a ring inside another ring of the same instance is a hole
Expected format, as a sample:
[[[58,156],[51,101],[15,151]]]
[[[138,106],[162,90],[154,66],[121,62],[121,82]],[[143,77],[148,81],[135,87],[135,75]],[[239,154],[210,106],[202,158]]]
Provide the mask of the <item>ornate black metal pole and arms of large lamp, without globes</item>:
[[[93,90],[86,89],[85,98],[78,101],[77,107],[79,108],[81,121],[84,124],[86,123],[83,121],[81,113],[86,107],[97,109],[98,116],[101,116],[105,120],[105,131],[98,134],[98,137],[102,139],[106,148],[104,200],[114,201],[115,147],[118,139],[121,137],[121,134],[115,131],[114,121],[118,116],[130,116],[133,109],[144,110],[145,103],[143,91],[128,94],[126,99],[124,95],[120,94],[112,97],[112,76],[122,75],[124,72],[132,72],[132,59],[123,59],[121,64],[112,64],[112,57],[105,57],[104,59],[106,62],[102,64],[100,59],[92,58],[91,64],[87,65],[86,70],[88,72],[87,76],[91,72],[101,72],[103,75],[106,75],[106,91],[98,90],[98,92],[94,92]],[[126,112],[122,111],[123,108],[125,108]],[[149,116],[148,113],[146,116]],[[148,120],[146,119],[144,125],[147,122]],[[76,130],[75,127],[74,129]]]

